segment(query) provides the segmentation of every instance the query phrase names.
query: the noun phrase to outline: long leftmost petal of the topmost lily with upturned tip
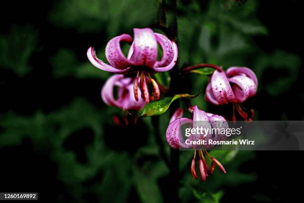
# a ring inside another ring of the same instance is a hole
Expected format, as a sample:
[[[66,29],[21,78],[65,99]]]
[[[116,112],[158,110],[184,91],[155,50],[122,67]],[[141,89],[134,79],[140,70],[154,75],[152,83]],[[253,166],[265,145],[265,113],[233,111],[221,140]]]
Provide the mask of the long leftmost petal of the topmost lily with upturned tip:
[[[103,61],[101,61],[100,59],[98,59],[96,57],[95,51],[93,47],[88,48],[87,50],[87,58],[88,60],[96,67],[108,72],[115,72],[115,73],[129,73],[131,72],[130,68],[126,68],[126,69],[117,69],[114,68],[106,63],[104,63]]]

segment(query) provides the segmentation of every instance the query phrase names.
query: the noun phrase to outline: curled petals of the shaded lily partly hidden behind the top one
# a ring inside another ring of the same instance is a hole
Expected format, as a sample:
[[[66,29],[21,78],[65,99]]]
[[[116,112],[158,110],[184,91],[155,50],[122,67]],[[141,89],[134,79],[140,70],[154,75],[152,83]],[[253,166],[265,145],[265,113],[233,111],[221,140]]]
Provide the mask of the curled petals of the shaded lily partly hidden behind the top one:
[[[114,74],[107,79],[101,89],[101,98],[109,106],[123,110],[141,110],[146,105],[144,100],[136,101],[133,88],[134,78],[123,74]],[[114,97],[114,87],[117,86],[117,99]]]

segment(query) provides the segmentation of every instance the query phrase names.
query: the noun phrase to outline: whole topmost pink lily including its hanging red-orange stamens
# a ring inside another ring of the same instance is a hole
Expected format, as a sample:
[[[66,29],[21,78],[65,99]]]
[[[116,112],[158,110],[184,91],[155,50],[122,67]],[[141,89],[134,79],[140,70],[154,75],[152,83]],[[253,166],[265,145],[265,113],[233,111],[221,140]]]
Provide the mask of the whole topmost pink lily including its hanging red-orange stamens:
[[[120,42],[132,43],[127,57],[121,51]],[[163,56],[157,61],[157,43],[162,48]],[[177,46],[173,40],[169,40],[162,34],[154,33],[150,28],[134,28],[134,40],[128,34],[111,39],[105,50],[109,65],[96,57],[93,47],[87,50],[89,61],[97,68],[121,74],[135,73],[134,96],[138,98],[138,86],[141,97],[147,103],[160,97],[157,82],[151,74],[167,71],[174,67],[177,60]],[[140,84],[140,85],[139,85]]]

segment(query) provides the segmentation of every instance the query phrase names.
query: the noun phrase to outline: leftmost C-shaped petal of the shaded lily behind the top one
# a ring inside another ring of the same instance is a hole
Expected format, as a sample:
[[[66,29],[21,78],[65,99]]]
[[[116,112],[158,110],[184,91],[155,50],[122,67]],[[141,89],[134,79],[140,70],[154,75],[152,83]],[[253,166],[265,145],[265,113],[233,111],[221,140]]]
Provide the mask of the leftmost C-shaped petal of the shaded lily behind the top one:
[[[122,108],[122,104],[114,98],[114,86],[115,83],[123,77],[124,75],[122,74],[114,74],[109,77],[103,85],[101,89],[101,98],[107,105]]]

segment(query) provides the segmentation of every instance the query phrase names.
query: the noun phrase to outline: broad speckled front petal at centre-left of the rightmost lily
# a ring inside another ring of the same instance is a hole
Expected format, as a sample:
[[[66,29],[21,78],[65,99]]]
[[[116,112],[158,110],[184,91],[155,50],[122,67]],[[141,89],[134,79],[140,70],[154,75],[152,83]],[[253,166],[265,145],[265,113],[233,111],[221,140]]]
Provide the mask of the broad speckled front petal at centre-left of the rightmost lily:
[[[219,104],[235,102],[235,96],[225,74],[225,71],[215,70],[211,76],[211,88],[214,98]]]

